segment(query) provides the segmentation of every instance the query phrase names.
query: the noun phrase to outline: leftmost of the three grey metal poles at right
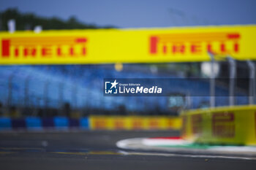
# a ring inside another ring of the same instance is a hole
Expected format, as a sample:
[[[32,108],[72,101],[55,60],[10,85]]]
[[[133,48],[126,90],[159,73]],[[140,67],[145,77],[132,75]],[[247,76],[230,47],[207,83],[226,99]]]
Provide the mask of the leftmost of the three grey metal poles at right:
[[[211,79],[210,79],[210,107],[215,107],[215,75],[214,75],[214,55],[209,53],[211,57]]]

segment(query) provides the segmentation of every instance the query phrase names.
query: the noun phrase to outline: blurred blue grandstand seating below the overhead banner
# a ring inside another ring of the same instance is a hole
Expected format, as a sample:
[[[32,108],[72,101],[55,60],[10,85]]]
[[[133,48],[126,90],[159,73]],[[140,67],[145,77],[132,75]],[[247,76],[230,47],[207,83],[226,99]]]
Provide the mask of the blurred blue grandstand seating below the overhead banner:
[[[177,73],[151,72],[147,65],[124,65],[122,72],[113,65],[1,66],[0,76],[0,102],[6,113],[15,112],[12,115],[178,114],[167,107],[168,96],[103,96],[102,81],[112,77],[170,79],[167,86],[173,94],[189,96],[187,109],[209,107],[209,96],[200,96],[208,93],[208,81],[184,81]],[[216,106],[228,104],[227,87],[217,85],[216,96]],[[236,98],[236,104],[247,103],[247,97]]]

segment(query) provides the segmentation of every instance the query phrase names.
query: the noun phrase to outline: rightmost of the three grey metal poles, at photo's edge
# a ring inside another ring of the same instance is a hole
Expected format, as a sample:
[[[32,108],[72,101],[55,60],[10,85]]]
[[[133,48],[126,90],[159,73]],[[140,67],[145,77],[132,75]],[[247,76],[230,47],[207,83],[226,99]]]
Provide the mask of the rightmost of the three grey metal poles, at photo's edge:
[[[255,63],[246,61],[249,67],[249,104],[255,103]]]

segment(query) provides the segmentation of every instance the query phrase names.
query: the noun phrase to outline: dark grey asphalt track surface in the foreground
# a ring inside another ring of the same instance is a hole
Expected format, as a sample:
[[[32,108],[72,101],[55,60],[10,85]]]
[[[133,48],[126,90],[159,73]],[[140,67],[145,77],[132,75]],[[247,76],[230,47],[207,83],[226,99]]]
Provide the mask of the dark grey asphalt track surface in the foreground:
[[[121,139],[158,136],[178,136],[178,132],[0,133],[0,169],[256,169],[255,160],[154,155],[116,147]]]

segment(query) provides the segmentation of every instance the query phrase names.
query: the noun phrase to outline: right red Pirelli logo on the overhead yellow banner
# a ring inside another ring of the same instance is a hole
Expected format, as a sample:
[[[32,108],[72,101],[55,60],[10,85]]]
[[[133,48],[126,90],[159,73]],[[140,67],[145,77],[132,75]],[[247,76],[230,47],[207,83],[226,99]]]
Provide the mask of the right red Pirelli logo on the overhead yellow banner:
[[[239,53],[238,33],[187,33],[159,34],[150,37],[149,53],[196,54],[211,52],[218,54]]]

